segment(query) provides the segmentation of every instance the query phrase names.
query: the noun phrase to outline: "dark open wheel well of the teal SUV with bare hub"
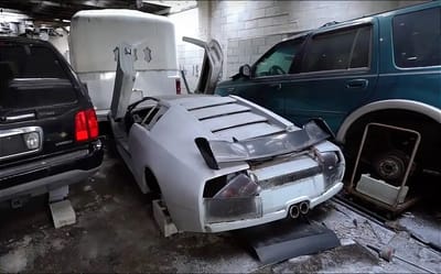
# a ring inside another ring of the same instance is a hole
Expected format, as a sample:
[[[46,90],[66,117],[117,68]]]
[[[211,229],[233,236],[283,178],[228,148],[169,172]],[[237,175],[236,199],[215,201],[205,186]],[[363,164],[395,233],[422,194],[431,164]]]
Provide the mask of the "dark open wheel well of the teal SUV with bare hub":
[[[413,160],[409,179],[418,177],[427,171],[431,174],[441,174],[438,156],[441,153],[439,133],[440,124],[422,114],[408,111],[381,111],[361,118],[354,123],[345,136],[344,153],[346,156],[346,179],[353,174],[365,127],[377,122],[419,132],[421,141]],[[410,162],[410,156],[416,144],[413,133],[402,131],[378,131],[375,140],[362,153],[361,162],[367,166],[368,172],[392,184],[400,184]],[[357,168],[359,171],[359,166]],[[438,172],[440,171],[440,172]],[[357,178],[355,178],[357,180]]]

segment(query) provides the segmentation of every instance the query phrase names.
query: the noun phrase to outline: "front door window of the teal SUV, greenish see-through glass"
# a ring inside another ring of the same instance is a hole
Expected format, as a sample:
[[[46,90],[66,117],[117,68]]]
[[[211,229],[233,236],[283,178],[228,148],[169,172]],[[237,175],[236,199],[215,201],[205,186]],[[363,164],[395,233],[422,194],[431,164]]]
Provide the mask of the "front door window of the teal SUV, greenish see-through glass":
[[[255,77],[288,74],[304,37],[281,42],[255,65]]]

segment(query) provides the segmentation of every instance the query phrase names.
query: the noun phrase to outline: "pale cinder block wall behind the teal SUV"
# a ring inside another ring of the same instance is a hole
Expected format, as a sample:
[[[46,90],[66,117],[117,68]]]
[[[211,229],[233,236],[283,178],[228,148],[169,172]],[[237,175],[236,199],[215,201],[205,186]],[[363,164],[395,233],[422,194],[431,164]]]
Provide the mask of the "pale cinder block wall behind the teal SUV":
[[[183,33],[203,39],[216,39],[224,50],[223,79],[238,72],[243,64],[252,64],[262,53],[282,39],[319,28],[331,21],[345,21],[373,13],[416,4],[409,1],[198,1],[197,8],[170,18]],[[180,18],[179,18],[180,17]],[[179,20],[178,20],[179,18]],[[197,28],[190,22],[197,20]],[[185,24],[183,24],[185,23]],[[186,35],[186,34],[185,34]],[[180,43],[179,43],[180,44]],[[195,54],[179,45],[180,64],[184,68],[195,66]],[[202,53],[201,53],[202,54]],[[198,61],[201,64],[202,57]],[[196,76],[187,69],[187,78]]]

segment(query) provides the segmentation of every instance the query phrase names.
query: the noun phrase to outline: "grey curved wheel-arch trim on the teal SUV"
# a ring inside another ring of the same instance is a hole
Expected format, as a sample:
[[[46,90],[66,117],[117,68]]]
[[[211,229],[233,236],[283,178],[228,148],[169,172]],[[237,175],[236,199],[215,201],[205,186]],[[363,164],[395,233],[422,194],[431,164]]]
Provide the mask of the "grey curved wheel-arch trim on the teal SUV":
[[[441,110],[419,101],[404,100],[404,99],[392,99],[384,101],[375,101],[361,107],[359,109],[352,112],[340,127],[336,141],[345,141],[346,133],[351,125],[361,117],[378,111],[378,110],[391,110],[391,109],[402,109],[408,111],[415,111],[417,113],[424,114],[434,121],[441,123]]]

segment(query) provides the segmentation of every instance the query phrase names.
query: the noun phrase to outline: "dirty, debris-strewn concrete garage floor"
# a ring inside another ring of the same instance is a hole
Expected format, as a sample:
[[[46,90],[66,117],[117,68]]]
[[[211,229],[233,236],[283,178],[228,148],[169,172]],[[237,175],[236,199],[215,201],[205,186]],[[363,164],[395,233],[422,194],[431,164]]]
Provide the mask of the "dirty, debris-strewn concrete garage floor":
[[[313,210],[310,219],[333,229],[344,244],[271,265],[262,265],[235,232],[162,238],[151,197],[139,191],[122,161],[109,153],[98,174],[71,188],[69,199],[77,222],[61,229],[53,228],[44,196],[20,209],[0,208],[0,273],[423,272],[398,260],[378,259],[367,243],[389,244],[409,261],[441,272],[439,252],[405,231],[385,229],[332,201]]]

